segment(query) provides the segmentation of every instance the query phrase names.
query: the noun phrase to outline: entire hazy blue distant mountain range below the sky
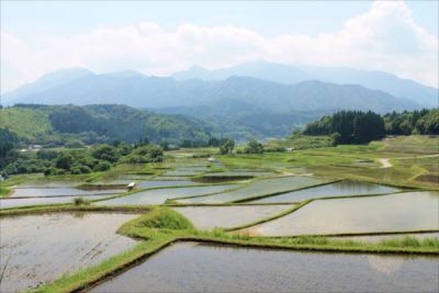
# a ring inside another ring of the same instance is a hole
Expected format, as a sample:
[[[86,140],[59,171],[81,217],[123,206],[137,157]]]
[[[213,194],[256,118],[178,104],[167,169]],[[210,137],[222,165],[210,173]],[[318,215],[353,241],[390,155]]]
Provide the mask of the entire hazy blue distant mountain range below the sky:
[[[264,61],[171,77],[82,68],[42,77],[2,95],[2,104],[126,104],[214,122],[223,134],[282,136],[337,110],[379,113],[437,106],[438,90],[378,71]]]

